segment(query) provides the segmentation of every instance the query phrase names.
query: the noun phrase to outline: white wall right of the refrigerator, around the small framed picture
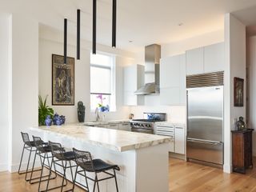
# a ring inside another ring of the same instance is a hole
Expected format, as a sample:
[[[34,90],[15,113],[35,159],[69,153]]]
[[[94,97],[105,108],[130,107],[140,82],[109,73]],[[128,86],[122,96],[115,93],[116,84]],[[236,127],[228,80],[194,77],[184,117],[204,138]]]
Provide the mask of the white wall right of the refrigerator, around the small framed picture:
[[[234,77],[245,79],[244,106],[234,107]],[[232,14],[225,15],[224,171],[232,171],[232,141],[239,116],[246,117],[246,26]]]

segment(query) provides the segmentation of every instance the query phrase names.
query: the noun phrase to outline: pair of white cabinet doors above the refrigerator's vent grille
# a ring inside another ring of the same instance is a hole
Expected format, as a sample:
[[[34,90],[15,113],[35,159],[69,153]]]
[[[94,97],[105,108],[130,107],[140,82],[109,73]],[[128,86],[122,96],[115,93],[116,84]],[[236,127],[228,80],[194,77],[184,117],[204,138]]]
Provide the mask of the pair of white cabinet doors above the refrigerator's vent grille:
[[[224,42],[186,51],[186,74],[224,70]]]

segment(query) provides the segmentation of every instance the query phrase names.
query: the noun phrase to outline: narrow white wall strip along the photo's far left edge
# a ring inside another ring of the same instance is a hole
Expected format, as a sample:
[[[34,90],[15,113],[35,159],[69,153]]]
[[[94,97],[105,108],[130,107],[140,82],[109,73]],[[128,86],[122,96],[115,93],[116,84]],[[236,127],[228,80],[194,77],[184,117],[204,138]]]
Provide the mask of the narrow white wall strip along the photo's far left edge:
[[[0,14],[0,171],[8,168],[10,15]]]

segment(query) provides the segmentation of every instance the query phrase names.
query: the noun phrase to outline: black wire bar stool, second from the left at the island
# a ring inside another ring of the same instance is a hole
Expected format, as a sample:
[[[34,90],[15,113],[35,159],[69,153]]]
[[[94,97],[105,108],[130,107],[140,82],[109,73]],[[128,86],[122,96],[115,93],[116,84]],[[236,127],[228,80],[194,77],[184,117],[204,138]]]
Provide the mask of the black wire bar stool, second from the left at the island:
[[[43,142],[40,137],[35,137],[35,136],[33,136],[33,140],[34,140],[34,145],[37,148],[36,156],[39,156],[40,162],[41,162],[41,166],[42,166],[41,174],[38,177],[39,178],[39,181],[38,181],[39,182],[38,191],[40,191],[41,182],[45,182],[45,181],[48,182],[50,179],[57,178],[57,174],[56,174],[56,169],[55,169],[55,166],[54,166],[54,177],[50,178],[52,173],[51,173],[51,170],[50,170],[51,167],[50,167],[49,159],[51,159],[52,156],[49,155],[51,153],[51,150],[50,150],[50,146],[49,146],[48,142],[47,143]],[[46,160],[47,160],[47,164],[46,164]],[[34,162],[35,162],[35,160],[34,160]],[[34,168],[34,165],[33,165],[33,168]],[[32,168],[32,170],[33,170],[33,168]],[[42,173],[43,173],[44,168],[49,170],[49,174],[46,174],[46,175],[43,176]],[[32,174],[33,174],[33,172],[32,172]],[[30,175],[31,178],[32,178],[32,174]],[[42,179],[42,178],[45,178],[45,177],[47,177],[47,178],[46,179]]]

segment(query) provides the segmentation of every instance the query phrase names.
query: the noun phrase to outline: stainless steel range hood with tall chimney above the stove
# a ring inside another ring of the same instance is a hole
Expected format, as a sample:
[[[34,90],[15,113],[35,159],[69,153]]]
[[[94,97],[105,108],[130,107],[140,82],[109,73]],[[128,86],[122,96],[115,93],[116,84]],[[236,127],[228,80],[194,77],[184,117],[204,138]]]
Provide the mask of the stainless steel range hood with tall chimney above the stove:
[[[153,44],[145,47],[145,86],[142,86],[134,94],[159,94],[159,63],[161,46]]]

